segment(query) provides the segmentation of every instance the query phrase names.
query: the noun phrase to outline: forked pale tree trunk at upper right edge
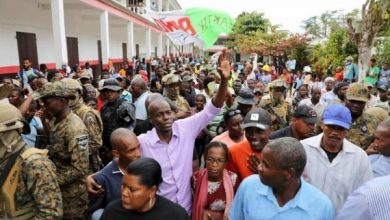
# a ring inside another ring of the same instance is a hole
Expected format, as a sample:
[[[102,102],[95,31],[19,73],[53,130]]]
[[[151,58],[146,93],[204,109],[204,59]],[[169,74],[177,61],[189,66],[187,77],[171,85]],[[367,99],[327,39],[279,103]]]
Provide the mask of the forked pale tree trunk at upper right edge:
[[[358,48],[360,80],[365,78],[363,68],[368,66],[375,37],[387,22],[389,4],[390,0],[366,0],[361,11],[360,31],[354,27],[353,19],[347,19],[348,35]]]

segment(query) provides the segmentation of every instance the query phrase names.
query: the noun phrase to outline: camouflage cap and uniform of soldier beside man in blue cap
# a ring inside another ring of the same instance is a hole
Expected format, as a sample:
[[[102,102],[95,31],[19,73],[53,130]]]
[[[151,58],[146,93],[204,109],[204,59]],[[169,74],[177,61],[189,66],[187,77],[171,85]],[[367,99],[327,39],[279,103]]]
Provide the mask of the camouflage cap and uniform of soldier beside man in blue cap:
[[[346,99],[367,102],[368,89],[366,85],[363,83],[349,85]],[[365,150],[374,140],[374,132],[377,126],[376,118],[363,112],[362,115],[352,121],[351,129],[348,131],[346,138]]]

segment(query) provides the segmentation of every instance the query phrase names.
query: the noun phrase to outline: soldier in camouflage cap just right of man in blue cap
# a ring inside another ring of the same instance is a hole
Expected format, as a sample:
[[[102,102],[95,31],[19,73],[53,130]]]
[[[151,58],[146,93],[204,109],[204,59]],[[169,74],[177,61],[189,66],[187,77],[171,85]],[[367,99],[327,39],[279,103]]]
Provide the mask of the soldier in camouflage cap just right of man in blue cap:
[[[374,116],[364,112],[368,101],[368,89],[363,83],[352,83],[347,90],[345,106],[352,114],[352,125],[347,139],[364,150],[374,140],[374,132],[378,121]]]

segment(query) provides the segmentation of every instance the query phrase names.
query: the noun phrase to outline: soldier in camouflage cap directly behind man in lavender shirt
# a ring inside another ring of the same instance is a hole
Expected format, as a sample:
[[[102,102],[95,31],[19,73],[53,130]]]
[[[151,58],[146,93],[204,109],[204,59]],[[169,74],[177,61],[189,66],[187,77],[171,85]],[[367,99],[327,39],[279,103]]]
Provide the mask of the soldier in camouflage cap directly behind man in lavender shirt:
[[[189,112],[191,110],[187,100],[180,95],[181,78],[177,74],[167,74],[162,78],[164,86],[163,96],[172,100],[179,110]]]

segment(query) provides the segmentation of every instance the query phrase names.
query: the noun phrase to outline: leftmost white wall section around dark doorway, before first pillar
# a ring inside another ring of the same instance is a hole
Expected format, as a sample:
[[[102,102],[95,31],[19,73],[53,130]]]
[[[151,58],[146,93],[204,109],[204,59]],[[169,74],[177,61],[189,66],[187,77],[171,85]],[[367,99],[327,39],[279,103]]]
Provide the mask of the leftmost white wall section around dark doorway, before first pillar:
[[[50,10],[36,1],[0,1],[0,66],[18,66],[16,32],[35,33],[39,63],[54,62]]]

